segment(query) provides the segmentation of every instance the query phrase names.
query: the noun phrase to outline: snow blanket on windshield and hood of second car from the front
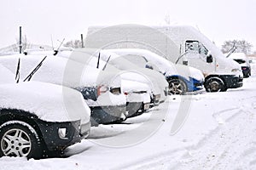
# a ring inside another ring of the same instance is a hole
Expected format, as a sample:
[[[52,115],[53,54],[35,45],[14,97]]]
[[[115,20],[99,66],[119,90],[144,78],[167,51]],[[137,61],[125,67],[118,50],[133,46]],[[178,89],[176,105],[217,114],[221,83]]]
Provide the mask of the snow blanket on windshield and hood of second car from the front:
[[[38,63],[44,59],[44,55],[11,55],[0,58],[1,63],[15,73],[16,65],[20,58],[20,78],[23,80]],[[43,65],[32,77],[32,80],[50,82],[65,85],[71,88],[97,86],[107,84],[119,87],[120,81],[116,80],[113,73],[100,71],[90,65],[82,65],[71,59],[48,56]]]

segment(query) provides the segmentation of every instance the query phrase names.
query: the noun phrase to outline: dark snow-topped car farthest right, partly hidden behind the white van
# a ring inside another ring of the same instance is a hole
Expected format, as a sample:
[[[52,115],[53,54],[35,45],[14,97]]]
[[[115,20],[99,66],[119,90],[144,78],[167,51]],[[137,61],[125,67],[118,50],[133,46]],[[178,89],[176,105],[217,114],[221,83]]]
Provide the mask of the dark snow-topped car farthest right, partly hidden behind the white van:
[[[233,53],[230,54],[229,58],[234,59],[239,65],[241,65],[241,71],[244,78],[251,76],[251,65],[246,54]]]

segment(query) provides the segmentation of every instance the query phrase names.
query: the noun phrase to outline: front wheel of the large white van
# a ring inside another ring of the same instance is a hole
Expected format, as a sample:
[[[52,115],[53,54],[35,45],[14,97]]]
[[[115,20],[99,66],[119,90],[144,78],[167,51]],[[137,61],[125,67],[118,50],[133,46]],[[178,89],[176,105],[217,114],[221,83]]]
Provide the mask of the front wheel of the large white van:
[[[224,92],[227,90],[222,79],[218,77],[208,78],[205,83],[205,88],[207,92]]]

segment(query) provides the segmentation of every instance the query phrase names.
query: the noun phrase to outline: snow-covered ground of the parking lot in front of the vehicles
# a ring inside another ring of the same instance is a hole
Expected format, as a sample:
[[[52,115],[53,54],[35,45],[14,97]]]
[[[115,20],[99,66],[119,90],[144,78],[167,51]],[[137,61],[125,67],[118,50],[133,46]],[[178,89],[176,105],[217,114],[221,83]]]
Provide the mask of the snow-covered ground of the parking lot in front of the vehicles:
[[[64,157],[2,157],[0,169],[256,169],[256,60],[252,67],[242,88],[170,96],[121,124],[92,127]]]

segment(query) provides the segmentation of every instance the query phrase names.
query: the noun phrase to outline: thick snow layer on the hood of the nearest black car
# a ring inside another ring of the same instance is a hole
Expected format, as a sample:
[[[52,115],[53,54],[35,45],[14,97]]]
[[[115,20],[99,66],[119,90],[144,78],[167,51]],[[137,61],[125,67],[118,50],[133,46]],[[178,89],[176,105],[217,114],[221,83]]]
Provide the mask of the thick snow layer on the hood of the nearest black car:
[[[0,95],[0,108],[28,111],[44,121],[90,119],[90,108],[82,94],[72,88],[46,82],[3,83]]]

